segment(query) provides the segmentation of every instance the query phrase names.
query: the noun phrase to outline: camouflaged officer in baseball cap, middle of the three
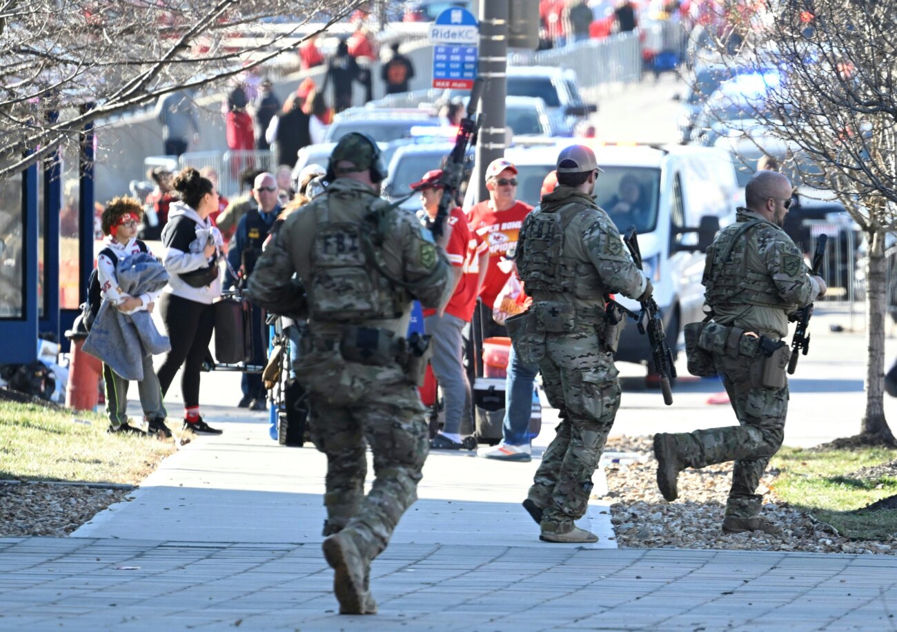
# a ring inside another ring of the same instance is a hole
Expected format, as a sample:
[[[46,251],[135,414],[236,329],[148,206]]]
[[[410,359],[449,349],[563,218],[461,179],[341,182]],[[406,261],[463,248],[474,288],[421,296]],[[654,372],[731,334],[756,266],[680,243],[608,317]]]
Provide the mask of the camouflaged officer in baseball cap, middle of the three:
[[[565,148],[558,186],[527,215],[517,247],[518,273],[533,304],[508,319],[508,331],[518,358],[538,363],[548,401],[561,411],[557,436],[523,502],[547,542],[597,541],[574,521],[586,513],[592,474],[620,406],[619,329],[605,320],[605,295],[651,294],[648,277],[592,198],[600,170],[588,147]]]

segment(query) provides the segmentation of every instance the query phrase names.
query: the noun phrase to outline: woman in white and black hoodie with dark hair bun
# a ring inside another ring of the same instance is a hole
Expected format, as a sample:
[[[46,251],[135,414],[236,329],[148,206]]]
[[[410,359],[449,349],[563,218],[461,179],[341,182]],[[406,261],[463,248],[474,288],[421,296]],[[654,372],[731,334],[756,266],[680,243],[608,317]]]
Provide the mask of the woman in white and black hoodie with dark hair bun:
[[[218,210],[218,192],[192,167],[181,170],[173,186],[180,201],[170,205],[169,220],[162,229],[164,264],[170,281],[159,303],[171,351],[159,368],[159,384],[162,393],[167,393],[184,365],[180,382],[184,397],[182,428],[220,435],[222,431],[210,427],[199,414],[199,375],[214,328],[212,303],[222,294],[218,267],[222,235],[209,220],[209,213]]]

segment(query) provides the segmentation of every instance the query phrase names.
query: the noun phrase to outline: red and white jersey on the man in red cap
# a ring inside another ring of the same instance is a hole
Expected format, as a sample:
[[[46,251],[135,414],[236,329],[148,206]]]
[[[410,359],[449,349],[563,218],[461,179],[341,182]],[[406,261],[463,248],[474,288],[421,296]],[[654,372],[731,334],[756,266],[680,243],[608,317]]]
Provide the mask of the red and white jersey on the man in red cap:
[[[451,228],[451,235],[446,245],[448,262],[452,267],[461,268],[461,278],[457,281],[457,287],[451,298],[448,299],[446,314],[470,322],[474,316],[476,282],[480,276],[478,257],[485,251],[486,245],[467,225],[467,216],[461,209],[452,209],[446,223]],[[423,310],[423,316],[432,316],[435,313],[435,309]]]

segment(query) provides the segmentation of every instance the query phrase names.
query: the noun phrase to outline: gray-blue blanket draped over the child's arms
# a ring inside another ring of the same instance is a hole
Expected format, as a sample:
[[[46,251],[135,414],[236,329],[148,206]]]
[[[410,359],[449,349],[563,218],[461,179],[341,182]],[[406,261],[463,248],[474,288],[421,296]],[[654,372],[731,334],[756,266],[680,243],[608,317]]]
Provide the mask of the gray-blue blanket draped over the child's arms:
[[[145,253],[126,256],[118,262],[116,273],[118,287],[135,297],[161,290],[169,279],[165,266]],[[156,329],[149,312],[123,314],[104,300],[83,349],[108,364],[119,376],[139,382],[144,379],[144,355],[168,353],[171,344],[168,336]]]

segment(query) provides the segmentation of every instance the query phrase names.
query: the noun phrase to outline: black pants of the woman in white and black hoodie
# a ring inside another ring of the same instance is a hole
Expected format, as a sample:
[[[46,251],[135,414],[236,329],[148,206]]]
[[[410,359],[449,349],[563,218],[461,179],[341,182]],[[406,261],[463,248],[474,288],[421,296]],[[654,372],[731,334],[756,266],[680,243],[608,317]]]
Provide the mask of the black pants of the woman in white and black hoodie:
[[[199,373],[212,340],[214,309],[211,305],[164,292],[159,301],[159,310],[171,342],[171,351],[165,356],[158,372],[162,394],[168,393],[175,374],[184,365],[180,376],[184,406],[198,406]]]

